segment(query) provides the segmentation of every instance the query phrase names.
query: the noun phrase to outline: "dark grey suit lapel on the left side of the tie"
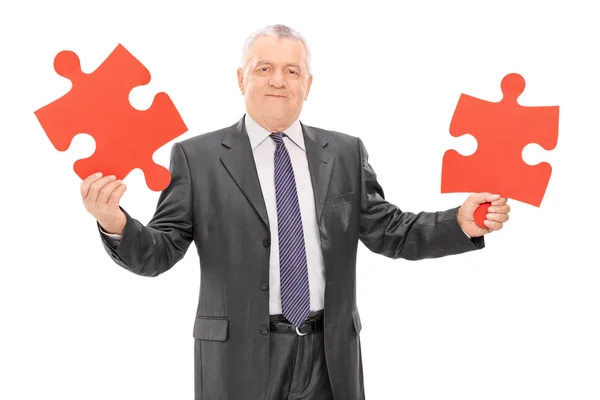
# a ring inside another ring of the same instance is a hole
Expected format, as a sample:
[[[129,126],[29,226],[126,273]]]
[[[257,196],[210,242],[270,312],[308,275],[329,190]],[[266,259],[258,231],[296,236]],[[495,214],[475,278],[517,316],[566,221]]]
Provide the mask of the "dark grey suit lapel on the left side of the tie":
[[[244,117],[227,131],[221,143],[230,149],[226,155],[221,157],[221,162],[252,204],[263,223],[269,228],[267,207],[260,188]]]

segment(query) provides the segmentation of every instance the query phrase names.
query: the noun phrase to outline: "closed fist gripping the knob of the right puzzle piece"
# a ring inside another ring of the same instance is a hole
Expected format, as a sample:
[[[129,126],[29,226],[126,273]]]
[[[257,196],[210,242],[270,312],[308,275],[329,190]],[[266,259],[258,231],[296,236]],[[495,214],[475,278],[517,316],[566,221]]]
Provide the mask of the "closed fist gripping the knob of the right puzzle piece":
[[[458,209],[458,224],[462,230],[471,237],[483,236],[493,231],[499,231],[508,221],[510,206],[507,199],[499,194],[475,193],[470,195]],[[487,228],[482,228],[475,223],[475,210],[483,203],[491,203],[488,214],[483,223]]]

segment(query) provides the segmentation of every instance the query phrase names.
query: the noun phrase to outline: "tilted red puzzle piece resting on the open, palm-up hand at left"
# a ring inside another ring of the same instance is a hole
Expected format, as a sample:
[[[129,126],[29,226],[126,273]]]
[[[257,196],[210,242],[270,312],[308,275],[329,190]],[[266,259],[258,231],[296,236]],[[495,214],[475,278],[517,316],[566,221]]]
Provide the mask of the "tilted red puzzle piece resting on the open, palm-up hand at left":
[[[81,71],[79,57],[72,51],[58,53],[54,69],[71,80],[72,88],[35,116],[59,151],[67,150],[80,133],[94,138],[94,154],[73,165],[77,175],[85,179],[99,171],[123,179],[140,168],[151,190],[165,189],[171,175],[152,155],[187,127],[166,93],[158,93],[148,110],[131,106],[129,93],[150,82],[148,69],[120,44],[90,74]]]

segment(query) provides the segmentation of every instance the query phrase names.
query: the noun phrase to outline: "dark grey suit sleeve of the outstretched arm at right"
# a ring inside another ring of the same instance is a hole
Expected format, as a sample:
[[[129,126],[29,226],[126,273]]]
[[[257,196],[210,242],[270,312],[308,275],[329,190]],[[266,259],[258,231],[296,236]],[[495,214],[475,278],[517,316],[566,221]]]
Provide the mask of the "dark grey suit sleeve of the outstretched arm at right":
[[[469,238],[460,228],[459,207],[412,213],[386,201],[360,139],[358,152],[361,163],[359,238],[369,250],[394,259],[421,260],[484,248],[483,236]]]

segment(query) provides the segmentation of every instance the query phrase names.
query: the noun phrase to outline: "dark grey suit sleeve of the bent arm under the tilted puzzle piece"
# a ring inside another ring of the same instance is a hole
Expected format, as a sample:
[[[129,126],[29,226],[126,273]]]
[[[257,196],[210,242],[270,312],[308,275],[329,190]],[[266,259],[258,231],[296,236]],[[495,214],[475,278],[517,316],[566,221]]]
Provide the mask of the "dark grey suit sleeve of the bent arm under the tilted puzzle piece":
[[[183,258],[193,240],[192,188],[185,153],[179,143],[171,149],[171,182],[158,199],[154,216],[144,226],[125,209],[125,230],[120,241],[111,241],[97,227],[102,244],[113,261],[141,276],[168,271]]]

